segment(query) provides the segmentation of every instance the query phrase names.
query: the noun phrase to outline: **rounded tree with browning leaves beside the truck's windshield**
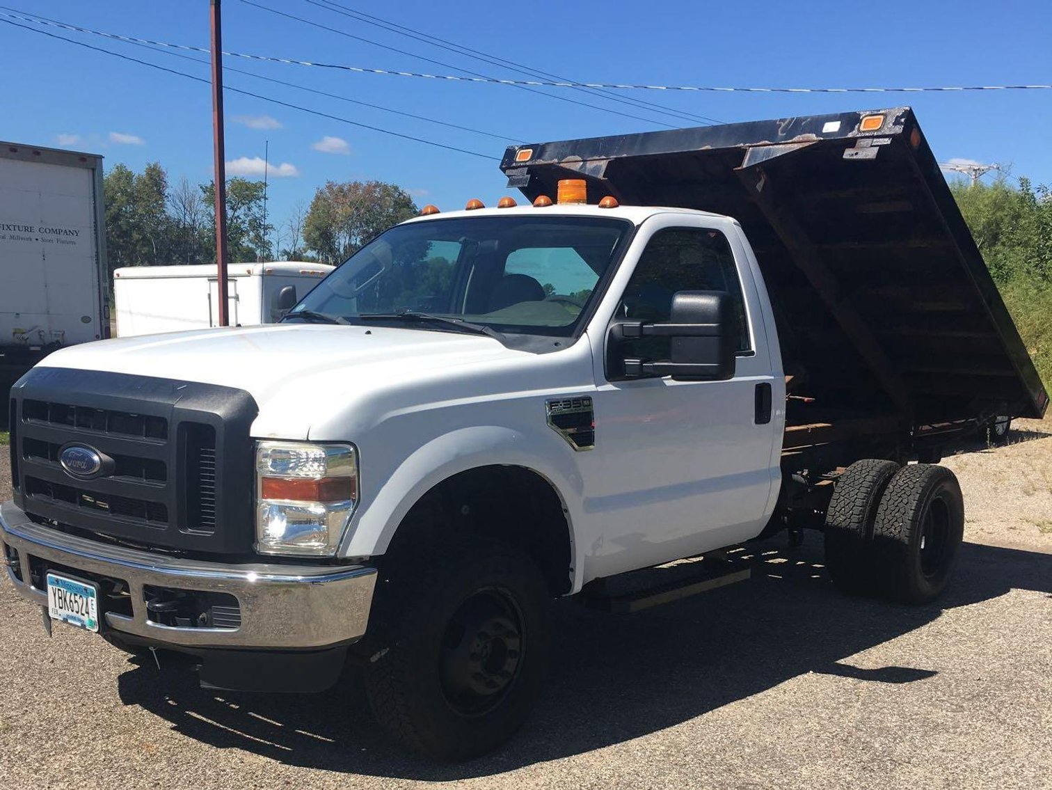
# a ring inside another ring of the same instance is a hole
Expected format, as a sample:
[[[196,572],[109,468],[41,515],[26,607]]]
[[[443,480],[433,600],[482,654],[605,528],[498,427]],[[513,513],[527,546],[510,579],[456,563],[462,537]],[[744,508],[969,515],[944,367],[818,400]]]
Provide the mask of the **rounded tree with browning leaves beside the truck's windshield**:
[[[323,263],[339,264],[419,209],[399,186],[382,181],[329,181],[315,193],[303,240]]]

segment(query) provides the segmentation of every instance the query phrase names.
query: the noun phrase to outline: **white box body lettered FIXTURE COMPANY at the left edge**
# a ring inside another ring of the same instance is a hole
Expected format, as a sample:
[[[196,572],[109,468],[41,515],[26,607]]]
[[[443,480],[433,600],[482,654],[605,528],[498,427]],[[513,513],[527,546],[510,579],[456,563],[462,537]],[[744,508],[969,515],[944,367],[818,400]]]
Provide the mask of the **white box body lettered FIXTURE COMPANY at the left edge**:
[[[109,337],[102,157],[0,142],[0,388]]]

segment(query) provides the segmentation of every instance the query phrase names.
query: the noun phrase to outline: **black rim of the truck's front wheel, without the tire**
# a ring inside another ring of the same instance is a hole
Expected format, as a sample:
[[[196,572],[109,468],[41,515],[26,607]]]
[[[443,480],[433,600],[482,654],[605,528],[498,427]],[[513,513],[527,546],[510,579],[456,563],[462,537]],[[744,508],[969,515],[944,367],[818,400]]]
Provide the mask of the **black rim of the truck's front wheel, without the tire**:
[[[498,588],[471,593],[446,625],[439,677],[449,706],[462,715],[495,708],[522,668],[522,614],[511,595]]]

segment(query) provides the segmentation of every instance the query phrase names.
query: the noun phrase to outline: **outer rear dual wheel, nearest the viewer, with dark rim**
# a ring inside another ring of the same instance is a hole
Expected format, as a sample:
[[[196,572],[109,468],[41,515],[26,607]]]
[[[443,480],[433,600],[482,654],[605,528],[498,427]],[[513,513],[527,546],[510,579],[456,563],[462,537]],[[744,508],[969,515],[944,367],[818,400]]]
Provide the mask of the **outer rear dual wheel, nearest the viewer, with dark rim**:
[[[943,592],[965,532],[960,485],[945,466],[905,466],[873,523],[873,565],[885,597],[927,604]]]

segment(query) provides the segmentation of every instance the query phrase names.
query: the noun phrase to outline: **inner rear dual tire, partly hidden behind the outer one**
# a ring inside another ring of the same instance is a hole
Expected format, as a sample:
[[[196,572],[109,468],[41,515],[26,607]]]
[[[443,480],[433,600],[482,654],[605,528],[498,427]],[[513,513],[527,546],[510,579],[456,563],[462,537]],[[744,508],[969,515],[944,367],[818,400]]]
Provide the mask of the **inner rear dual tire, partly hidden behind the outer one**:
[[[899,469],[894,461],[865,459],[836,481],[826,509],[826,566],[833,584],[852,595],[873,594],[871,540],[881,497]]]

